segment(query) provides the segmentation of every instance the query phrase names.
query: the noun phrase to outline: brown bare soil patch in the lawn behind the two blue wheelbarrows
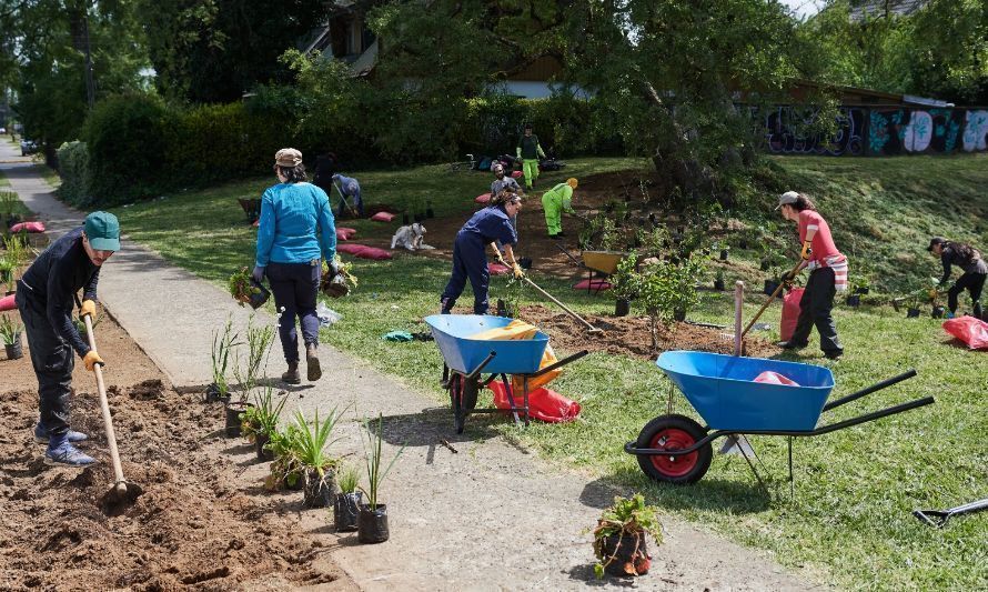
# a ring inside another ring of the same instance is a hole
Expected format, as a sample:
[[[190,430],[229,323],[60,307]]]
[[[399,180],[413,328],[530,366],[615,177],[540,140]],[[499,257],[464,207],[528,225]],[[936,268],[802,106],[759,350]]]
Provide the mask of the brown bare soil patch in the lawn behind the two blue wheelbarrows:
[[[602,330],[588,333],[578,321],[565,312],[541,304],[522,307],[520,317],[548,333],[554,347],[568,350],[604,351],[635,355],[647,360],[655,359],[658,352],[652,349],[648,319],[645,317],[594,317],[584,318]],[[727,330],[696,327],[687,323],[673,323],[668,329],[659,324],[658,351],[694,350],[732,353],[734,342],[724,337]],[[747,339],[747,355],[768,358],[779,353],[776,345],[758,339]]]

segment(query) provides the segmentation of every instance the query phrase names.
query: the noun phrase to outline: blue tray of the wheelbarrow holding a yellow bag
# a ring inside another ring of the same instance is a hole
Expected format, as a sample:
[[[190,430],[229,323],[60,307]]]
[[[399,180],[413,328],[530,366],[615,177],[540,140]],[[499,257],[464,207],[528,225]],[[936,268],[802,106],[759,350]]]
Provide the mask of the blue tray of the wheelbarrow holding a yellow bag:
[[[473,339],[482,331],[506,327],[514,319],[488,314],[433,314],[425,318],[446,365],[470,374],[491,354],[496,355],[484,367],[492,374],[534,374],[542,363],[548,335],[538,331],[532,339]]]

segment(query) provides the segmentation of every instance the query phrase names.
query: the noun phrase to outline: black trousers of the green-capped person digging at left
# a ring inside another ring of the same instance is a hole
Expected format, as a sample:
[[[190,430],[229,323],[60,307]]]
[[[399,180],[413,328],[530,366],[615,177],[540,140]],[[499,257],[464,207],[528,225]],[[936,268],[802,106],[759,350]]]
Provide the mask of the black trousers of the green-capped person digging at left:
[[[30,288],[18,282],[14,301],[21,312],[28,349],[31,351],[31,365],[38,377],[41,423],[54,440],[69,432],[69,393],[75,358],[72,347],[54,332],[44,309],[33,302],[29,293]]]

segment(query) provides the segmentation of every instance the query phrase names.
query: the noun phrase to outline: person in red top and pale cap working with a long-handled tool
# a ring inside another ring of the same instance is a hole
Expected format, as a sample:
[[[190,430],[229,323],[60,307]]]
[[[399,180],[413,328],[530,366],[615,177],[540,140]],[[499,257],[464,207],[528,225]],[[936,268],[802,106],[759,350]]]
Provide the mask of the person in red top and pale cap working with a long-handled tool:
[[[837,324],[830,315],[834,297],[847,290],[847,258],[840,254],[830,237],[830,227],[816,211],[816,205],[803,193],[786,191],[779,197],[776,210],[783,218],[799,227],[799,241],[803,243],[803,261],[796,270],[809,269],[806,290],[799,300],[799,319],[788,341],[779,347],[794,350],[809,344],[809,332],[816,325],[820,334],[820,349],[830,360],[840,358],[844,348],[837,338]],[[789,278],[792,279],[792,278]]]

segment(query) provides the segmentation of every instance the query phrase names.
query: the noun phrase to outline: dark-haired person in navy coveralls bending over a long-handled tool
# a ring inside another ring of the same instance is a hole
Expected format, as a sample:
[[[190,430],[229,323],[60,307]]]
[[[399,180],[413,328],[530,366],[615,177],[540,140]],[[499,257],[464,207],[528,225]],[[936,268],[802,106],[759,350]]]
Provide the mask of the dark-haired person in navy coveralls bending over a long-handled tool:
[[[487,313],[487,285],[491,272],[487,269],[485,249],[490,245],[497,253],[500,241],[504,245],[504,254],[511,261],[516,278],[522,277],[522,268],[515,261],[514,244],[518,235],[511,223],[512,218],[522,209],[522,197],[512,191],[502,191],[491,198],[491,204],[480,210],[456,233],[453,243],[453,273],[440,302],[442,313],[448,314],[463,293],[466,281],[473,289],[474,314]],[[500,258],[498,253],[498,258]]]

